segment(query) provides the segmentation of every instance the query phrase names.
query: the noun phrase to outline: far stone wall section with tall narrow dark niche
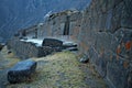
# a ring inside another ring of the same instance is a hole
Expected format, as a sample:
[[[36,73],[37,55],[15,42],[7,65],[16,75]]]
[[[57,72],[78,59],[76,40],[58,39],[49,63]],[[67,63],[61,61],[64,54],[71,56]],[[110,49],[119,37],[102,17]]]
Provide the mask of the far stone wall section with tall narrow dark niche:
[[[68,16],[68,21],[67,21]],[[78,28],[80,28],[81,12],[79,11],[64,11],[61,13],[52,14],[48,20],[38,30],[38,38],[47,36],[63,36],[64,31],[68,28],[69,36],[77,36],[79,34]],[[66,25],[68,23],[68,25]],[[78,33],[78,34],[77,34]]]

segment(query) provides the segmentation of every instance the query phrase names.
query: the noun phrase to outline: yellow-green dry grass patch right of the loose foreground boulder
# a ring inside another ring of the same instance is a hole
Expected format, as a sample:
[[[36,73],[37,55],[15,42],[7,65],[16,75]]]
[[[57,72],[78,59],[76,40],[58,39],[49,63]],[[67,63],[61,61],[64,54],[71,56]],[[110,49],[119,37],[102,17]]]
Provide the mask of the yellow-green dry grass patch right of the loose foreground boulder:
[[[37,62],[36,73],[29,82],[9,85],[7,88],[88,88],[85,74],[78,68],[76,56],[62,52]]]

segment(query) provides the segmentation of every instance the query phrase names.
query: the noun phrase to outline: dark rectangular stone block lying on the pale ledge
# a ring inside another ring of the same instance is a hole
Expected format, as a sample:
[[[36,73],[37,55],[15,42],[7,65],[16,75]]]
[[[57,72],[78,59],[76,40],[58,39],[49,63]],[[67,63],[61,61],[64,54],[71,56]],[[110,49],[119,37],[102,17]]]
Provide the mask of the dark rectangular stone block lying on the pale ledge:
[[[56,38],[44,38],[42,46],[62,47],[63,42]]]

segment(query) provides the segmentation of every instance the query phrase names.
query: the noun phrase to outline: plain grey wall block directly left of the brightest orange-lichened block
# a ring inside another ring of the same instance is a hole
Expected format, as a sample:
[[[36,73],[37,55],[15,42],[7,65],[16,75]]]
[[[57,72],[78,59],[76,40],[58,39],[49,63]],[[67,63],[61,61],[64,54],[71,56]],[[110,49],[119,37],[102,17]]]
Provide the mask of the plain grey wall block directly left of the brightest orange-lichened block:
[[[109,52],[114,52],[116,53],[116,45],[118,45],[118,42],[113,37],[111,33],[107,32],[98,32],[95,34],[95,48],[99,54],[101,53],[109,53]],[[113,41],[113,42],[112,42]]]

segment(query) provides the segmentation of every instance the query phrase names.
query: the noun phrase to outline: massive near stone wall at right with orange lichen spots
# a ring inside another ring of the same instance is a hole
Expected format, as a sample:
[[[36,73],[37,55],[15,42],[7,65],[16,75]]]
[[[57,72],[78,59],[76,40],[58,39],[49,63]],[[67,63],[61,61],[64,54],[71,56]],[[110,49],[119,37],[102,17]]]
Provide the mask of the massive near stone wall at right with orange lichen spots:
[[[132,0],[92,0],[85,10],[80,52],[112,88],[132,87]]]

